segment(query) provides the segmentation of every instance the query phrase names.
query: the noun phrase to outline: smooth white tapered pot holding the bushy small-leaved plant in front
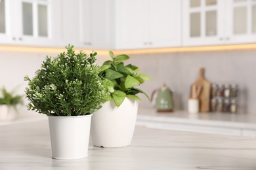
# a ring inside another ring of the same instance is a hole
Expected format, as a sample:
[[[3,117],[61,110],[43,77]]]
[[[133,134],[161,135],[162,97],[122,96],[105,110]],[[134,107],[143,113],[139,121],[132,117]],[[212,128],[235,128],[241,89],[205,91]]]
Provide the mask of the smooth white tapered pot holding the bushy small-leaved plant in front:
[[[88,156],[91,115],[48,118],[54,159],[75,160]]]

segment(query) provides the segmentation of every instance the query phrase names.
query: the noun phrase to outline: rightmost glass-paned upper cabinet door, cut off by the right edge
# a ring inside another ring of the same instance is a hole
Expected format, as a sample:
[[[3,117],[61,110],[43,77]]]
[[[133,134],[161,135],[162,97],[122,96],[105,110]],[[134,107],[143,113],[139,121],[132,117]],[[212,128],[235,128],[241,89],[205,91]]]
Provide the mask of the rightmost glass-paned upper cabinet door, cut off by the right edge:
[[[256,1],[229,0],[226,5],[227,43],[256,42]]]

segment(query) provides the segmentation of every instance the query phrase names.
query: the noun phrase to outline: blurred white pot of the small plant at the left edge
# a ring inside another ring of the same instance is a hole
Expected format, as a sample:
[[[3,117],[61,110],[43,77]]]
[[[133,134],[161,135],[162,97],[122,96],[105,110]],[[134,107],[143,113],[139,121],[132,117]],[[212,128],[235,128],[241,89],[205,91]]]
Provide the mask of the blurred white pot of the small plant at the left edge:
[[[16,118],[16,112],[13,107],[8,107],[7,105],[0,105],[0,120],[9,121]]]

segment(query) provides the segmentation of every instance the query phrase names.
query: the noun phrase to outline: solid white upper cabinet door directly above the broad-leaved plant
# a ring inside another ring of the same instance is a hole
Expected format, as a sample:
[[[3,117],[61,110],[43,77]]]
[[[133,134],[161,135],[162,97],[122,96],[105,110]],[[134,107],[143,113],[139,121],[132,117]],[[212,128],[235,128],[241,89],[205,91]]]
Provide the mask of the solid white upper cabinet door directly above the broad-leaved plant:
[[[144,48],[148,43],[146,0],[116,1],[116,48]]]

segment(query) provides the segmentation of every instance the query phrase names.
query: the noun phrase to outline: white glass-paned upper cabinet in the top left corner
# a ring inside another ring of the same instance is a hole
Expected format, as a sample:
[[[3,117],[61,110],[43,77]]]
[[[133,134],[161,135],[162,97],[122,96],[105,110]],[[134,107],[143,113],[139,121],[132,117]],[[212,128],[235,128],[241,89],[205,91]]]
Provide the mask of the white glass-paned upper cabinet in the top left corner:
[[[51,1],[2,0],[0,43],[15,45],[54,44]]]

